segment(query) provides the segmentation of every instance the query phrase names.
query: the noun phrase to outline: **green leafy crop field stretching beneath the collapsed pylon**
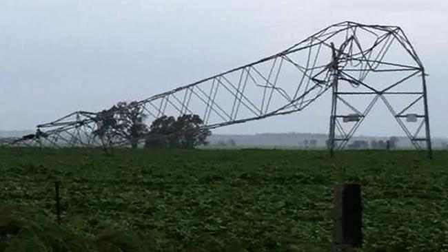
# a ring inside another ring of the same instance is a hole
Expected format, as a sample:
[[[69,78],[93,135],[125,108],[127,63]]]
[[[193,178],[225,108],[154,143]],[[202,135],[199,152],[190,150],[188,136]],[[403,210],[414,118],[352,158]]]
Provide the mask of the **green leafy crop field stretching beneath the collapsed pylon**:
[[[64,232],[120,230],[147,251],[329,251],[337,182],[362,185],[363,251],[448,251],[445,151],[0,148],[0,168],[4,206],[55,222],[60,180]]]

